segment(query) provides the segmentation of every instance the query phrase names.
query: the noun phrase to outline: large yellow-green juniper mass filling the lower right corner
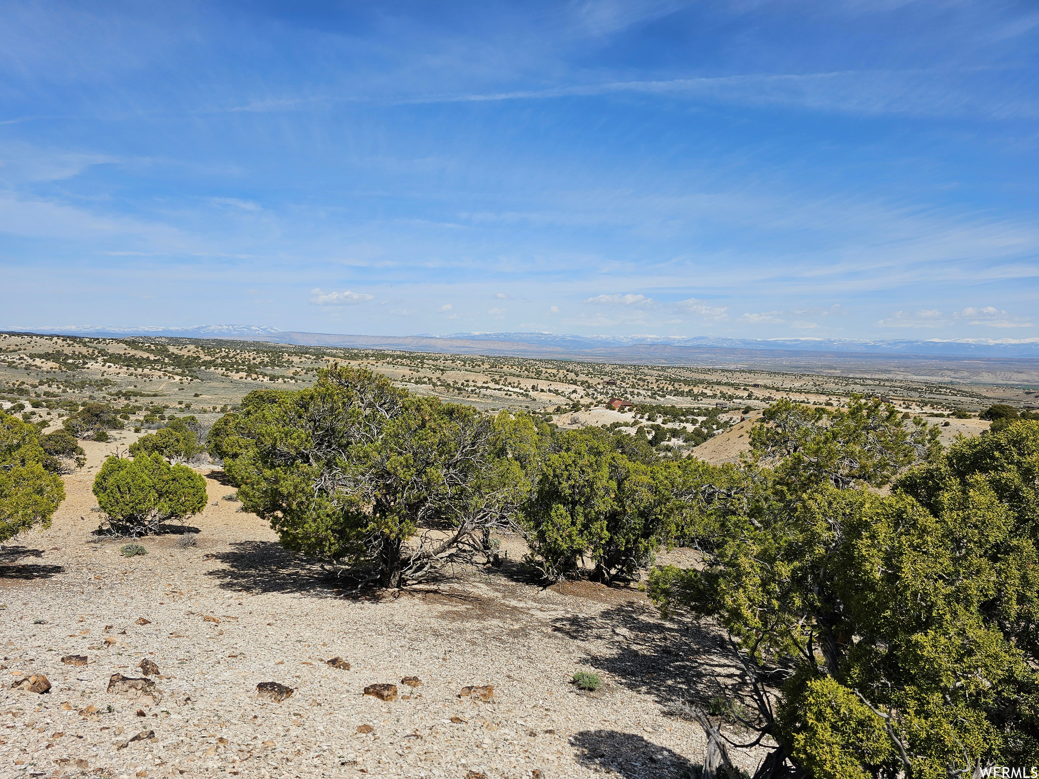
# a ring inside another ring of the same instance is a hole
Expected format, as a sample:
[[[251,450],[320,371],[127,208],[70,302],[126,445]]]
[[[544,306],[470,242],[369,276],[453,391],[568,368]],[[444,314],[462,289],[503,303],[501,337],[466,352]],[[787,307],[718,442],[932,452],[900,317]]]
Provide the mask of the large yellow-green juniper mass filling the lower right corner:
[[[757,702],[745,724],[777,745],[757,776],[1034,760],[1039,425],[942,455],[876,401],[765,420],[739,468],[695,466],[686,485],[702,569],[650,576],[665,614],[728,630]],[[913,465],[890,495],[868,489]]]

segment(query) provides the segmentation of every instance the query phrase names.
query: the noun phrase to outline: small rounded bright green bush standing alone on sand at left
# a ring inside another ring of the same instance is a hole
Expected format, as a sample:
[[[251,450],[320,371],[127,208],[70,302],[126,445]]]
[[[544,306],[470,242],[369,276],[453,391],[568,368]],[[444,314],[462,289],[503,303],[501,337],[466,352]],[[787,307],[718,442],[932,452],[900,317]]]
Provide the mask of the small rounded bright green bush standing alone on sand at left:
[[[94,480],[98,506],[112,532],[138,536],[164,521],[206,508],[206,480],[187,465],[170,465],[159,454],[133,460],[109,457]]]

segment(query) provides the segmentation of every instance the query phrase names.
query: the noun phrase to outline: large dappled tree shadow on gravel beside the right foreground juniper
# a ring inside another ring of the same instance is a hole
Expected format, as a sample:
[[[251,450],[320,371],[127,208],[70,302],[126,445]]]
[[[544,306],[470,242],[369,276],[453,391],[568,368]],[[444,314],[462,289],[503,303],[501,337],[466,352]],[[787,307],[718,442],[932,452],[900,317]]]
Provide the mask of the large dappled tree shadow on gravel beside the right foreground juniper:
[[[708,621],[664,621],[638,601],[595,616],[571,614],[553,630],[574,641],[609,640],[615,651],[589,651],[585,663],[659,704],[680,701],[705,709],[712,698],[736,695],[746,676],[723,634]]]

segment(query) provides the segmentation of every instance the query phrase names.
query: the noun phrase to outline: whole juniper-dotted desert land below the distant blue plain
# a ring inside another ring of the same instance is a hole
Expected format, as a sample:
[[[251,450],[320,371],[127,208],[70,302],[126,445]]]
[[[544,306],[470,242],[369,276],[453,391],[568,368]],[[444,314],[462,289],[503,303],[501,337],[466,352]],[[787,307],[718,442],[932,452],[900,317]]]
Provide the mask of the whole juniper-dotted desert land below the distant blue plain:
[[[1039,750],[1039,421],[1006,387],[17,338],[20,770],[896,777]]]

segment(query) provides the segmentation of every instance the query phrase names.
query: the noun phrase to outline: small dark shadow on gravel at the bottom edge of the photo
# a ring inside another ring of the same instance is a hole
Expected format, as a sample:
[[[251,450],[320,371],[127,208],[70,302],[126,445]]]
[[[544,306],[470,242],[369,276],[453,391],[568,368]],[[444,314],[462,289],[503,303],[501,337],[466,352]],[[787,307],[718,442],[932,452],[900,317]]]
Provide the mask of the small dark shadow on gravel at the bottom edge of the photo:
[[[699,774],[699,765],[634,733],[582,730],[571,741],[581,765],[593,771],[606,769],[624,779],[685,779]]]

